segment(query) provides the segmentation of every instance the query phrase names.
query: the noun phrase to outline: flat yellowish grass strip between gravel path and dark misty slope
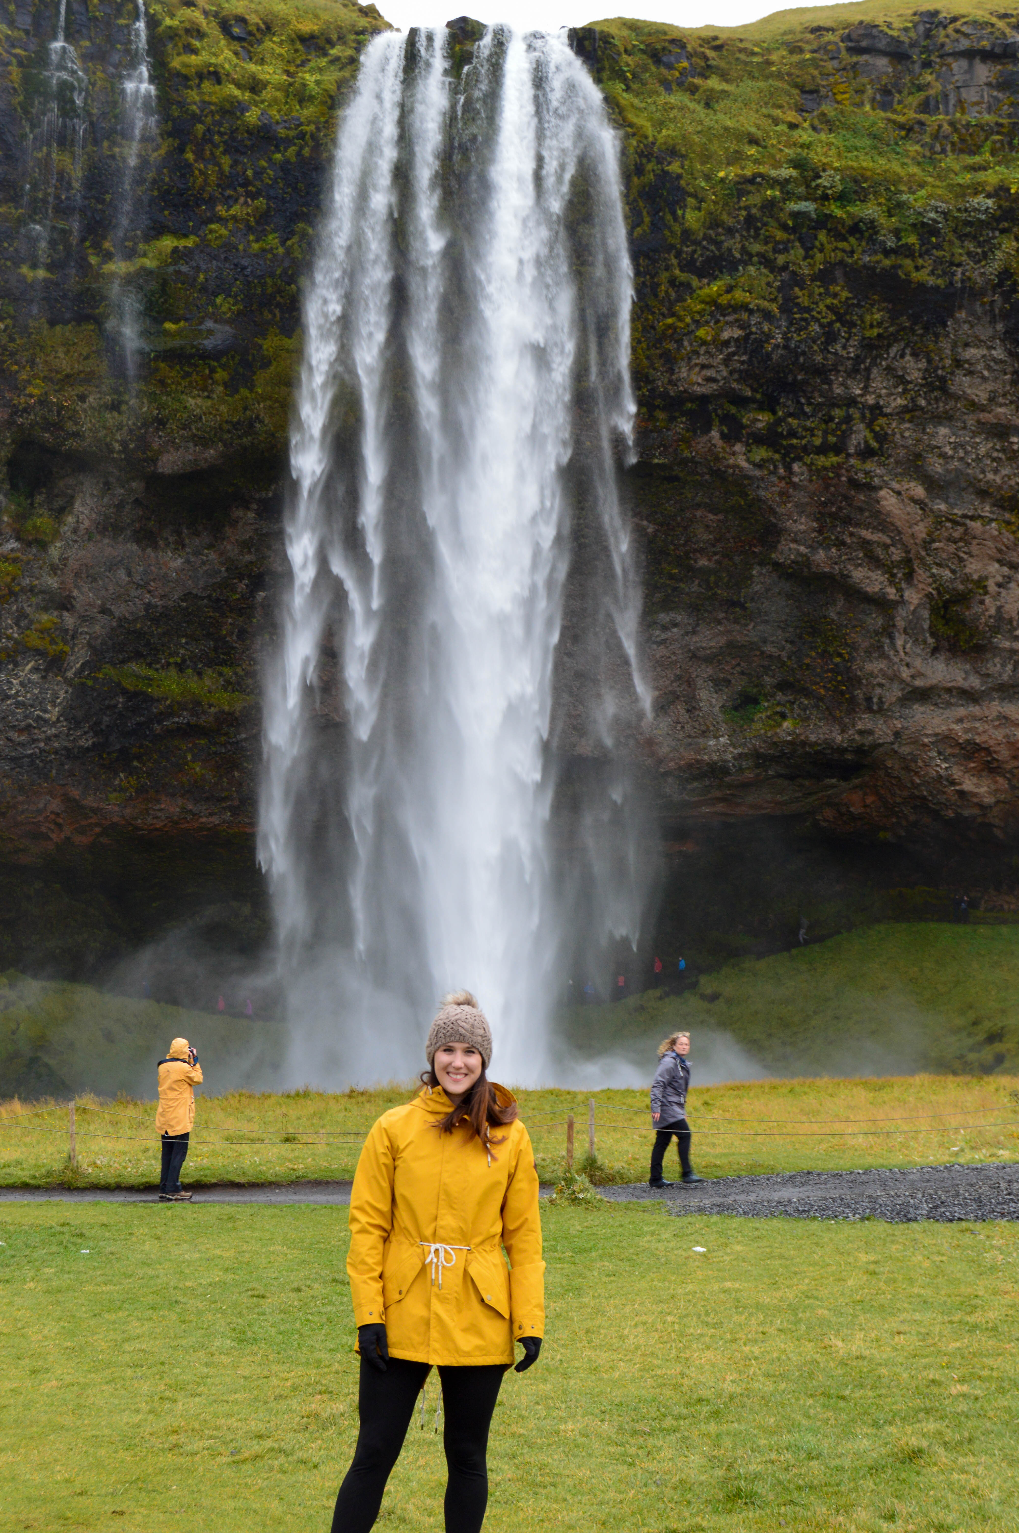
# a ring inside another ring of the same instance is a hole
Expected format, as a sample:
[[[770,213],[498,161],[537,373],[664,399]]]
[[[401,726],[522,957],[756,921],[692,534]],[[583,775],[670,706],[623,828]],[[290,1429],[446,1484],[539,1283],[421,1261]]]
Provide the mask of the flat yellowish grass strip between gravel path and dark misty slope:
[[[696,1039],[694,1033],[694,1065]],[[394,1085],[199,1096],[184,1180],[201,1187],[349,1177],[371,1124],[411,1091],[411,1085]],[[576,1160],[585,1156],[591,1101],[595,1180],[644,1180],[653,1142],[647,1091],[521,1091],[542,1180],[562,1171],[570,1113]],[[1014,1076],[751,1081],[696,1087],[688,1111],[694,1164],[703,1176],[975,1164],[1019,1153]],[[66,1104],[0,1104],[0,1185],[152,1187],[159,1167],[153,1121],[152,1104],[80,1099],[72,1168]]]

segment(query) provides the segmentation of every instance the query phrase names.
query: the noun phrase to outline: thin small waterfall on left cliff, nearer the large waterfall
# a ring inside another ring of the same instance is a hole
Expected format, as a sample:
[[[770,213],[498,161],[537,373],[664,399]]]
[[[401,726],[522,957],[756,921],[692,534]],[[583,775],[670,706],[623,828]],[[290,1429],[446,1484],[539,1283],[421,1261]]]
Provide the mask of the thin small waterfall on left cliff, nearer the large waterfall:
[[[158,130],[156,87],[149,58],[149,23],[144,0],[130,29],[130,55],[121,78],[121,176],[113,221],[115,276],[110,293],[110,316],[121,350],[124,371],[133,382],[138,368],[141,299],[120,270],[130,259],[138,242],[143,198],[143,156]]]

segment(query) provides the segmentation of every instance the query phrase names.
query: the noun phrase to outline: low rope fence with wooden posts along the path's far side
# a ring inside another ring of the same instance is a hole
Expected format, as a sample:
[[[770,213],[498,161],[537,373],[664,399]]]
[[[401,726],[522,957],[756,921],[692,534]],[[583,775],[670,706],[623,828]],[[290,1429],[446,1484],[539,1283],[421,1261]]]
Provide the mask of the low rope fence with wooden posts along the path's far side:
[[[619,1111],[618,1105],[608,1108],[608,1111]],[[625,1111],[636,1111],[648,1116],[648,1108],[634,1107],[624,1108]],[[135,1113],[118,1113],[113,1108],[97,1107],[90,1102],[67,1102],[66,1107],[57,1104],[54,1107],[41,1108],[26,1108],[15,1116],[6,1116],[0,1113],[0,1133],[5,1130],[12,1133],[54,1133],[55,1124],[25,1124],[20,1119],[29,1116],[38,1116],[41,1113],[67,1113],[67,1159],[70,1165],[78,1162],[78,1139],[98,1139],[98,1141],[115,1141],[118,1144],[136,1144],[147,1145],[149,1148],[158,1148],[161,1144],[156,1134],[155,1124],[149,1118],[141,1118]],[[982,1113],[1001,1111],[998,1107],[970,1107],[967,1114],[970,1118],[979,1118]],[[83,1127],[78,1119],[80,1113],[98,1113],[101,1118],[113,1118],[120,1124],[144,1124],[149,1133],[146,1134],[123,1134],[107,1130],[104,1127],[89,1128]],[[938,1122],[930,1125],[930,1119],[945,1119],[956,1118],[958,1113],[903,1113],[883,1118],[714,1118],[714,1114],[705,1122],[697,1121],[691,1127],[697,1133],[699,1139],[870,1139],[870,1137],[886,1137],[896,1134],[967,1134],[967,1133],[984,1133],[990,1130],[1002,1128],[1019,1128],[1019,1119],[1005,1119],[998,1122]],[[565,1118],[559,1114],[541,1113],[533,1118],[526,1118],[527,1124],[541,1124],[542,1136],[552,1130],[565,1130],[565,1164],[573,1165],[575,1159],[575,1141],[576,1141],[576,1119],[573,1113],[567,1113]],[[300,1148],[326,1148],[336,1145],[360,1145],[365,1142],[368,1128],[290,1128],[287,1118],[282,1119],[283,1127],[277,1131],[276,1137],[270,1137],[273,1130],[257,1130],[257,1128],[228,1128],[225,1139],[204,1139],[193,1137],[193,1150],[234,1150],[238,1147],[244,1148],[282,1148],[283,1145],[300,1145]],[[717,1124],[751,1124],[749,1128],[720,1128]],[[827,1125],[846,1125],[846,1127],[827,1127]],[[896,1128],[872,1128],[872,1124],[906,1124],[907,1127]],[[924,1124],[926,1127],[919,1127]],[[772,1127],[774,1125],[774,1127]],[[781,1130],[786,1131],[781,1131]],[[778,1131],[775,1131],[778,1130]],[[596,1102],[590,1098],[587,1107],[587,1151],[588,1156],[595,1157],[598,1153],[598,1136],[602,1133],[622,1133],[631,1139],[647,1139],[650,1133],[656,1133],[654,1124],[648,1124],[645,1128],[634,1128],[631,1122],[618,1122],[613,1118],[596,1118]],[[259,1137],[256,1137],[259,1136]]]

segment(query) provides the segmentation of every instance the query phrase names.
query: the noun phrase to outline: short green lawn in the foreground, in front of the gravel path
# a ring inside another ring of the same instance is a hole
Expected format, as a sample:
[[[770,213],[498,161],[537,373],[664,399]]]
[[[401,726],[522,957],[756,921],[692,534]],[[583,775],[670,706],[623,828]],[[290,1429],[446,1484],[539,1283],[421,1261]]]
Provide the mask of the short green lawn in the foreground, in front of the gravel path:
[[[356,1435],[343,1210],[0,1226],[5,1528],[328,1527]],[[495,1413],[492,1533],[1019,1527],[1014,1225],[544,1226],[549,1334]],[[438,1533],[441,1487],[415,1421],[380,1528]]]

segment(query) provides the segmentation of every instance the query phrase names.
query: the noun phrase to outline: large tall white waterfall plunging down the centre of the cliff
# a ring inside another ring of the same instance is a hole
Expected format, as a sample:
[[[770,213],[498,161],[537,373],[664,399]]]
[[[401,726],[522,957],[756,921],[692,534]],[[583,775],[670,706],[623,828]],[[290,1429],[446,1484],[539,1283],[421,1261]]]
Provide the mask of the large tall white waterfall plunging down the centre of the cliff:
[[[259,858],[290,1072],[333,1084],[406,1078],[451,986],[549,1079],[575,954],[641,915],[618,141],[562,38],[492,28],[460,80],[447,38],[365,51],[303,313]]]

